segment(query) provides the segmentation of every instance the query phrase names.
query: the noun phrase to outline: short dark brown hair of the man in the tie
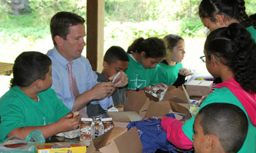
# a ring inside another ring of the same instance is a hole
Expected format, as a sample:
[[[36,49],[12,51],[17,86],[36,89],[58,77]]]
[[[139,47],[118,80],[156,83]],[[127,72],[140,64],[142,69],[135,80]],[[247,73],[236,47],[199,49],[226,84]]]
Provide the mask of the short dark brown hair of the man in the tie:
[[[53,44],[56,46],[54,37],[59,35],[66,40],[66,36],[70,33],[69,27],[77,24],[84,24],[85,20],[72,12],[58,12],[51,18],[50,28]]]

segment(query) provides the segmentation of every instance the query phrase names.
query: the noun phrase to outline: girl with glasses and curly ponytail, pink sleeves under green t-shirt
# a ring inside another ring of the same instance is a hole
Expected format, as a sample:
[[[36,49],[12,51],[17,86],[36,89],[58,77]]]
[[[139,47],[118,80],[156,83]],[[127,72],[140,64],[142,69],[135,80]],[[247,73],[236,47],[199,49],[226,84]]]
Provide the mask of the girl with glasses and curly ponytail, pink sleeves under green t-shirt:
[[[240,107],[248,118],[248,134],[239,152],[256,152],[255,41],[240,24],[233,23],[208,35],[204,54],[200,58],[208,71],[214,77],[220,77],[223,83],[217,84],[199,109],[210,103],[231,103]],[[195,116],[185,123],[164,117],[161,124],[171,143],[178,148],[189,149],[193,147],[194,120]]]

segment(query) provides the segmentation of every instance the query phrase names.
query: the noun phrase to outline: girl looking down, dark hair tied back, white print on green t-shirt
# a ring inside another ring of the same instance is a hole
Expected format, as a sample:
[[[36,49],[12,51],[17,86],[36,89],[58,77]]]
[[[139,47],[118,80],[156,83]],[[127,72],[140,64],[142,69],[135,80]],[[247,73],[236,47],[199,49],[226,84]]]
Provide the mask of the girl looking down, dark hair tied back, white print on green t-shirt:
[[[129,90],[139,90],[157,83],[156,65],[166,54],[165,45],[158,37],[140,37],[128,47],[129,65],[126,70]]]

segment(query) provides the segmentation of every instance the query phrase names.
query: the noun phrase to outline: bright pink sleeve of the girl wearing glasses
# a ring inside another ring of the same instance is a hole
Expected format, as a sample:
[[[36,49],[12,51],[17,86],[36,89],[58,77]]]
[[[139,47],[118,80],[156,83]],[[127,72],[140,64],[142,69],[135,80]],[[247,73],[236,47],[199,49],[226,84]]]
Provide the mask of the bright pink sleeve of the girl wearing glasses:
[[[162,129],[167,132],[167,139],[177,148],[190,149],[193,147],[193,142],[186,137],[182,131],[184,123],[170,117],[164,117],[161,120]]]

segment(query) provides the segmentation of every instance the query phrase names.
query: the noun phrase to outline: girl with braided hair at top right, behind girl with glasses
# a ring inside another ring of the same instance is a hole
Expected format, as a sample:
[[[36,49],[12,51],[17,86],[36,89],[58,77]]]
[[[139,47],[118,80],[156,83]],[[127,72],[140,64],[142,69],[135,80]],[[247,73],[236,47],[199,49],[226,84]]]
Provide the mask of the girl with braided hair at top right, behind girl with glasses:
[[[244,0],[203,0],[199,5],[199,16],[210,31],[240,23],[256,41],[256,22],[248,17],[244,4]]]

